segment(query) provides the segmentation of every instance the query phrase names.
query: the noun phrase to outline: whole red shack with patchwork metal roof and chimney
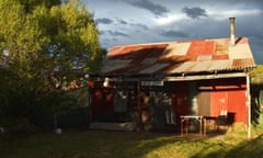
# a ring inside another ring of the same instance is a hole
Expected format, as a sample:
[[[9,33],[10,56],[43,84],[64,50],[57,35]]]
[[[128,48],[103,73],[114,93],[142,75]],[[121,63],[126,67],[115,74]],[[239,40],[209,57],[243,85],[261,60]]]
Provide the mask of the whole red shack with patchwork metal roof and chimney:
[[[102,74],[90,80],[92,122],[135,122],[149,128],[180,125],[182,115],[216,117],[250,127],[250,77],[255,67],[248,37],[114,46]]]

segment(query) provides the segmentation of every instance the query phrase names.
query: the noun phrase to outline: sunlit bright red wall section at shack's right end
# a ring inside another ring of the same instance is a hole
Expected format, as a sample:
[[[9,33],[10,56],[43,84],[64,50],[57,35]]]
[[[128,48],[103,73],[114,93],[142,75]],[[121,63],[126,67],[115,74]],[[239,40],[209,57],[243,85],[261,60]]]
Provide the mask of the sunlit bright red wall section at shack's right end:
[[[235,122],[248,123],[245,105],[245,82],[241,79],[214,80],[210,90],[210,115],[218,116],[227,110],[235,116]]]

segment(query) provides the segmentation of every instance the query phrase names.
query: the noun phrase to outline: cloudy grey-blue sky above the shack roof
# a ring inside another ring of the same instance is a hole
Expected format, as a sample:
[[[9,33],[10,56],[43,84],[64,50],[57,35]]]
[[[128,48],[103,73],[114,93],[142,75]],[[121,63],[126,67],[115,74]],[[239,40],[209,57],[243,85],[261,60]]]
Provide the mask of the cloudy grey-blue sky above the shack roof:
[[[83,0],[94,14],[104,48],[114,45],[229,37],[250,38],[256,64],[263,64],[262,0]]]

